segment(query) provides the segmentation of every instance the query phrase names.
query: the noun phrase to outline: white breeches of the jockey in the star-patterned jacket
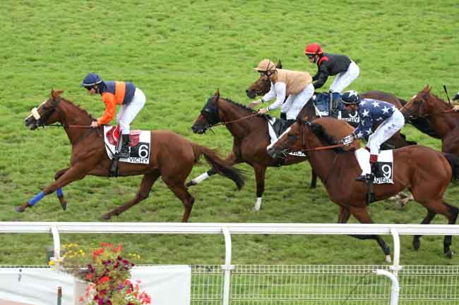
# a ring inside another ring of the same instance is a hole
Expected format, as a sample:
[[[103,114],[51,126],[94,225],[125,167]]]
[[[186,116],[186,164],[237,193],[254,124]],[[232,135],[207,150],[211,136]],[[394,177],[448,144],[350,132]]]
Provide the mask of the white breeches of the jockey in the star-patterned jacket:
[[[381,123],[374,133],[368,137],[366,146],[369,147],[370,154],[378,155],[381,144],[392,137],[395,132],[398,132],[403,125],[405,125],[405,118],[398,109],[395,109],[392,116]]]

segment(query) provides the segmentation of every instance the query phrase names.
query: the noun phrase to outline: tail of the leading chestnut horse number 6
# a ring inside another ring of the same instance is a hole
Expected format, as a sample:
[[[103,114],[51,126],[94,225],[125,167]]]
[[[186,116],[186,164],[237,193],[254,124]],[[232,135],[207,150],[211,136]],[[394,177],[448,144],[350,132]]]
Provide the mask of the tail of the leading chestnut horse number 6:
[[[242,175],[241,170],[232,168],[232,166],[227,165],[222,158],[217,155],[217,152],[208,147],[203,147],[201,145],[192,143],[194,156],[196,162],[201,157],[201,154],[204,155],[204,158],[208,163],[219,173],[220,175],[225,176],[234,181],[237,185],[237,189],[242,189],[244,186],[244,176]]]

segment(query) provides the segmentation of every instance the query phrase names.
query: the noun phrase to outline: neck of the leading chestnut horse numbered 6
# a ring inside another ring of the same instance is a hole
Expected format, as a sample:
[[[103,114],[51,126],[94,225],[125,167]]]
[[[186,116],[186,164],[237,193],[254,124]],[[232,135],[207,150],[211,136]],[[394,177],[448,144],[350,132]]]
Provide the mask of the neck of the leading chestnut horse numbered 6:
[[[78,106],[71,104],[68,101],[61,101],[58,106],[60,109],[60,116],[63,116],[61,119],[61,123],[64,125],[89,125],[91,124],[91,116],[83,109],[79,108]],[[75,144],[78,139],[81,138],[85,132],[88,132],[88,128],[81,128],[81,127],[67,127],[66,133],[68,139],[72,144]]]

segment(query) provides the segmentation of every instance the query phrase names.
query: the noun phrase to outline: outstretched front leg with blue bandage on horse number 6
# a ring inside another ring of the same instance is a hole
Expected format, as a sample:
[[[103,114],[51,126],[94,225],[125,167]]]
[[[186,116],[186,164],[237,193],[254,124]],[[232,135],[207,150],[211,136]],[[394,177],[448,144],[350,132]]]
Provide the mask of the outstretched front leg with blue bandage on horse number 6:
[[[71,168],[66,169],[65,171],[63,171],[63,173],[61,173],[59,178],[57,178],[56,182],[52,183],[52,185],[47,186],[42,192],[38,193],[32,199],[26,201],[21,206],[16,206],[15,208],[16,211],[17,212],[25,211],[25,208],[30,208],[34,206],[38,201],[40,201],[46,195],[56,192],[57,189],[61,189],[61,187],[68,185],[68,183],[84,178],[86,173],[88,173],[88,171],[89,171],[88,169],[86,169],[83,166],[78,166],[78,164],[72,166]],[[64,194],[62,194],[62,196],[64,196]]]

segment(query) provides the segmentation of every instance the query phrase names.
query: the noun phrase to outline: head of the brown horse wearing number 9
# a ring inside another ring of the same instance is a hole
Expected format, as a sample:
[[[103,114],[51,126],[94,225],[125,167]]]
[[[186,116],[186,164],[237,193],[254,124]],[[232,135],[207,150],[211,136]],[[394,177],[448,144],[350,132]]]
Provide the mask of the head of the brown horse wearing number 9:
[[[311,123],[298,117],[297,121],[285,130],[275,144],[268,149],[272,158],[287,158],[289,152],[300,151],[306,147],[306,134]]]

